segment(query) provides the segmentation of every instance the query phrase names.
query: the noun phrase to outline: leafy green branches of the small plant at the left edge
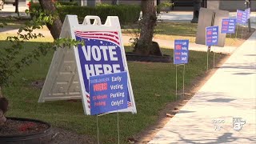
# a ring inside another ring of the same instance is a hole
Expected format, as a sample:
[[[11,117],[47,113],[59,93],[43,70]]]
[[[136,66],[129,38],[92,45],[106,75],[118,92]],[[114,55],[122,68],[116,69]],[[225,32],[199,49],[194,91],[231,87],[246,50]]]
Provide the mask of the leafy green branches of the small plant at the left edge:
[[[41,33],[34,33],[34,30],[41,29],[46,24],[52,24],[54,22],[55,15],[49,14],[42,10],[26,10],[29,14],[33,11],[34,17],[26,22],[25,26],[19,28],[17,35],[9,36],[6,38],[11,43],[11,46],[4,47],[0,50],[0,98],[1,101],[6,98],[2,98],[2,86],[8,86],[11,83],[11,78],[14,74],[17,74],[23,67],[29,66],[39,57],[45,56],[48,51],[56,50],[57,48],[84,45],[84,42],[76,41],[70,38],[58,38],[54,42],[44,42],[33,50],[28,51],[25,55],[20,55],[21,50],[26,49],[24,42],[28,42],[31,39],[44,38]],[[6,23],[2,23],[0,26],[4,26]],[[8,101],[6,99],[8,107]],[[0,108],[0,124],[6,122],[4,114],[7,108]]]

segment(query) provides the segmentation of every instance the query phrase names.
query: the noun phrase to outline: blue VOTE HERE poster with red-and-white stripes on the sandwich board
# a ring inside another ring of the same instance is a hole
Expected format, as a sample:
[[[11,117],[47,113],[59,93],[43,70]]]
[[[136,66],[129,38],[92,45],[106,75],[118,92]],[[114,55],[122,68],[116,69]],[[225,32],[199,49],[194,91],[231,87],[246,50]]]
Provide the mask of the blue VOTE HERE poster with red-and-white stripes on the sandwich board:
[[[74,34],[78,41],[85,42],[85,46],[78,45],[78,57],[82,71],[83,86],[88,94],[86,98],[89,99],[90,76],[126,71],[124,58],[122,57],[121,40],[118,31],[76,30]],[[130,95],[129,89],[126,103],[128,107],[133,106]],[[90,106],[90,102],[87,102]]]

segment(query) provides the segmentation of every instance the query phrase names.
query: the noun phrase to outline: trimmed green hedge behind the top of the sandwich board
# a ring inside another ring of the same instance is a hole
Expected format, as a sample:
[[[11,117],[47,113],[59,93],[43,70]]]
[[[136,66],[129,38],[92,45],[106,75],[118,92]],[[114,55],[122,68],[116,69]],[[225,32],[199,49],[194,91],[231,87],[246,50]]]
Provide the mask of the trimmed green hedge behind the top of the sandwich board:
[[[38,3],[34,3],[30,8],[38,10],[40,8]],[[122,25],[127,23],[134,23],[138,21],[139,14],[141,11],[140,6],[134,5],[98,5],[95,7],[89,6],[57,6],[59,17],[63,22],[66,14],[78,15],[78,21],[81,23],[86,15],[98,15],[102,23],[106,22],[107,16],[118,16],[119,21]],[[33,15],[33,14],[31,14]]]

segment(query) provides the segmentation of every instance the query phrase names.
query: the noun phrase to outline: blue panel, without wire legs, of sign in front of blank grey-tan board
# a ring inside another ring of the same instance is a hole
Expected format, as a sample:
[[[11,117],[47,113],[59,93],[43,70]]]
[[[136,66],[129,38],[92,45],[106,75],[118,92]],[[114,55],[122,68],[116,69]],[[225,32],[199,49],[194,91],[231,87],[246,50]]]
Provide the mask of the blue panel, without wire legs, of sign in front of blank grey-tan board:
[[[218,44],[218,26],[206,27],[206,46]]]

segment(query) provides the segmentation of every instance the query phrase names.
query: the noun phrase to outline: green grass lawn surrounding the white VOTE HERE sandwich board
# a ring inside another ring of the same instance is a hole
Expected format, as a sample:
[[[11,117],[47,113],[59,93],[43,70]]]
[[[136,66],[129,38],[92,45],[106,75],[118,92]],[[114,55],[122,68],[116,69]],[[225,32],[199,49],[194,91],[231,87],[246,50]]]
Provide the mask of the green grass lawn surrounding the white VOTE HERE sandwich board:
[[[33,50],[38,42],[26,42],[26,50]],[[10,46],[9,42],[0,40],[0,45]],[[126,48],[130,51],[130,48]],[[162,49],[164,54],[173,55],[173,50]],[[3,93],[10,100],[7,116],[38,118],[50,122],[53,126],[73,130],[78,134],[86,134],[97,139],[96,117],[83,114],[81,101],[57,101],[38,103],[41,90],[31,86],[37,80],[44,80],[48,72],[54,51],[46,57],[39,58],[30,66],[26,66],[15,74],[13,82],[3,88]],[[222,58],[216,54],[215,59]],[[210,54],[213,63],[213,54]],[[121,143],[154,125],[159,111],[166,103],[175,100],[175,66],[173,63],[128,62],[130,78],[134,90],[134,98],[138,114],[119,114]],[[210,65],[212,66],[212,64]],[[182,68],[178,69],[178,89],[182,88]],[[192,85],[194,78],[206,72],[206,53],[190,51],[190,62],[186,65],[186,86]],[[117,114],[106,114],[99,117],[101,143],[118,143]]]

